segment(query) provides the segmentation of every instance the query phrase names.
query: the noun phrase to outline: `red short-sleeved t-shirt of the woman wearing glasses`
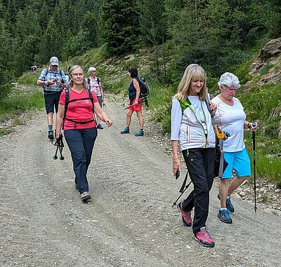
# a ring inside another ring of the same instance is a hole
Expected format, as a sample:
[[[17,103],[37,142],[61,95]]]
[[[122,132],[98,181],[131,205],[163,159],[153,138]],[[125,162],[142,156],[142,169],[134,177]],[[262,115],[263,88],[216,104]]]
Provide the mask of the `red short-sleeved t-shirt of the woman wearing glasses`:
[[[96,97],[95,93],[91,92],[93,96],[93,102],[98,102],[98,97]],[[67,107],[66,111],[66,118],[70,118],[73,121],[91,121],[93,120],[93,105],[91,100],[81,100],[82,98],[89,98],[89,95],[84,88],[81,93],[76,93],[74,90],[70,88],[70,100],[77,100],[74,102],[70,102]],[[65,90],[60,95],[60,104],[65,105]],[[64,130],[71,130],[71,129],[88,129],[96,127],[96,121],[91,123],[74,123],[72,121],[65,120]]]

